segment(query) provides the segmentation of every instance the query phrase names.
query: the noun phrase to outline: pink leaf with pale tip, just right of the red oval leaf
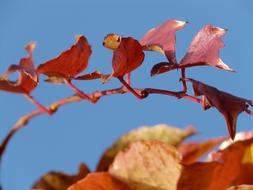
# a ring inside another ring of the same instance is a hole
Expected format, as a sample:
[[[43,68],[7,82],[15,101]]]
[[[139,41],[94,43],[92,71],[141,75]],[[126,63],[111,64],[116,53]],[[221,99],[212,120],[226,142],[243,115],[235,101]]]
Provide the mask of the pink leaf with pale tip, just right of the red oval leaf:
[[[144,50],[158,51],[166,55],[170,63],[176,64],[176,31],[184,28],[187,22],[167,20],[160,26],[150,29],[140,40]]]

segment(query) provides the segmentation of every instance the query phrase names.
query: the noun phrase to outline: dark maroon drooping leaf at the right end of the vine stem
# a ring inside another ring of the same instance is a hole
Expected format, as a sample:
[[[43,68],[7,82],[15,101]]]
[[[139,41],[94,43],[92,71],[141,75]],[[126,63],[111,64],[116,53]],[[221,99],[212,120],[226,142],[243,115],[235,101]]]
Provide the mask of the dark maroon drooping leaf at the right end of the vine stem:
[[[223,114],[227,122],[230,137],[234,139],[238,115],[243,111],[248,112],[248,107],[253,106],[252,102],[250,100],[231,95],[227,92],[220,91],[217,88],[206,85],[200,81],[194,79],[186,80],[192,82],[196,96],[203,95],[205,97],[204,99],[208,101],[208,104],[214,106]]]

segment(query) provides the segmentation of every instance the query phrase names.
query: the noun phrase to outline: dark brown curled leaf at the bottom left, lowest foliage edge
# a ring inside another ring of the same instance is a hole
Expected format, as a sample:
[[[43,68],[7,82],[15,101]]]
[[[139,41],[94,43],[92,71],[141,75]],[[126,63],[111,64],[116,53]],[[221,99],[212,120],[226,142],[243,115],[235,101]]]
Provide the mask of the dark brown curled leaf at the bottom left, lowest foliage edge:
[[[36,182],[32,190],[66,190],[70,185],[84,178],[89,173],[85,164],[81,164],[77,175],[62,172],[49,172]]]

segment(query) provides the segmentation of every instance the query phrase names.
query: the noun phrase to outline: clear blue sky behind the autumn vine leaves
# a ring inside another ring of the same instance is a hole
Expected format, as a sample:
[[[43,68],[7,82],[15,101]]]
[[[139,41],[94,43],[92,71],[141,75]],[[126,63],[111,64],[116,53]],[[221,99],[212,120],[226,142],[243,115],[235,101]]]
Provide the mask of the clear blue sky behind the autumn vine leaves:
[[[190,23],[177,33],[177,57],[184,55],[194,34],[204,25],[213,24],[229,31],[221,51],[223,61],[238,73],[211,67],[193,68],[188,76],[253,99],[253,1],[169,1],[169,0],[1,0],[0,1],[0,72],[18,63],[26,55],[23,46],[37,42],[36,65],[55,57],[74,42],[77,34],[85,35],[93,54],[87,71],[111,72],[111,52],[102,46],[107,33],[118,33],[140,39],[153,26],[169,18]],[[165,58],[147,53],[145,63],[132,74],[135,87],[181,88],[180,73],[149,77],[154,63]],[[102,85],[99,81],[75,82],[80,89],[92,92],[119,86],[117,80]],[[44,105],[69,96],[67,86],[46,84],[32,93]],[[0,138],[6,135],[17,119],[35,107],[22,96],[0,93]],[[252,118],[241,114],[237,129],[252,129]],[[121,134],[142,125],[167,123],[184,128],[189,124],[201,132],[193,138],[227,135],[225,120],[215,109],[206,112],[187,100],[154,95],[139,101],[134,96],[105,97],[97,105],[74,103],[61,108],[53,117],[41,116],[14,136],[4,155],[1,181],[6,190],[28,189],[36,179],[50,170],[74,173],[80,162],[91,169],[106,147]]]

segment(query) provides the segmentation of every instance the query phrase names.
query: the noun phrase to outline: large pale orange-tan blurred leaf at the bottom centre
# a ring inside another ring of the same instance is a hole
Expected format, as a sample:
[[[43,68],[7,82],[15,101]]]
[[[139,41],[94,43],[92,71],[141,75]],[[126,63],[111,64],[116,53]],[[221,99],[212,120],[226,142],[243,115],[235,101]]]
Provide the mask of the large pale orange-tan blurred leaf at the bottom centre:
[[[117,154],[109,173],[135,190],[176,190],[179,162],[175,147],[160,141],[137,141]]]

